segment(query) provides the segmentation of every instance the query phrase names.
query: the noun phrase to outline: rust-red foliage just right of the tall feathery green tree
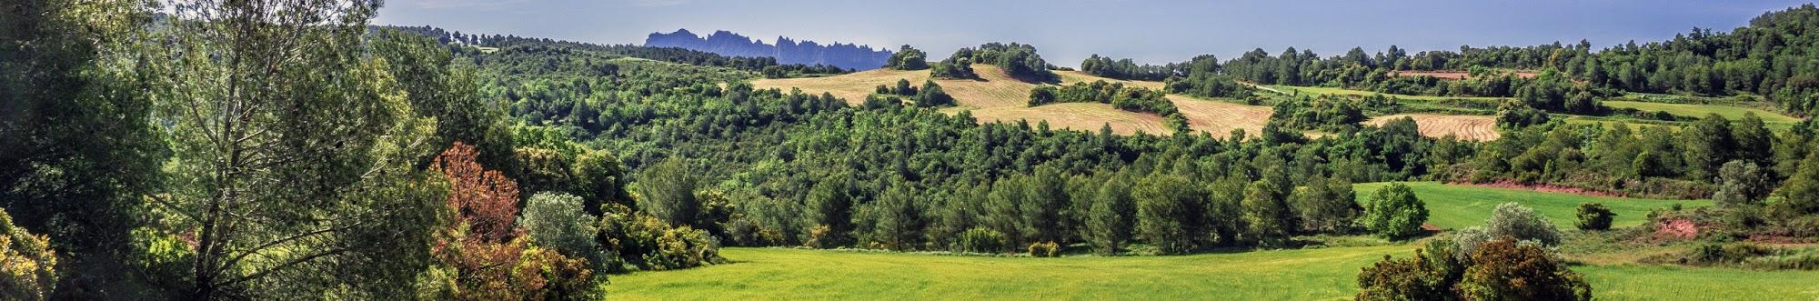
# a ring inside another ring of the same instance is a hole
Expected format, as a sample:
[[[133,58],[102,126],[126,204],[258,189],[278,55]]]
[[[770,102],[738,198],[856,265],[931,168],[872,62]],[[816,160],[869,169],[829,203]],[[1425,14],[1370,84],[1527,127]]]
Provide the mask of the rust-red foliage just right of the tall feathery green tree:
[[[460,214],[457,223],[467,223],[487,241],[513,236],[511,223],[518,216],[518,183],[498,170],[480,167],[473,145],[455,141],[429,169],[449,178],[449,207]]]

